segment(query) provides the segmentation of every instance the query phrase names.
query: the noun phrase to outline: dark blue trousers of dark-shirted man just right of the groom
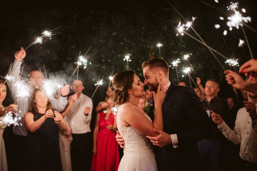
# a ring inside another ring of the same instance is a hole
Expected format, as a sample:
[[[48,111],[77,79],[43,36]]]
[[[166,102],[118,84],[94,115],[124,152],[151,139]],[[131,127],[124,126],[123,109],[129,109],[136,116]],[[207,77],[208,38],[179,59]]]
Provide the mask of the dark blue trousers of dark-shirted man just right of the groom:
[[[203,168],[220,171],[221,166],[221,140],[202,140],[198,142],[198,151]]]

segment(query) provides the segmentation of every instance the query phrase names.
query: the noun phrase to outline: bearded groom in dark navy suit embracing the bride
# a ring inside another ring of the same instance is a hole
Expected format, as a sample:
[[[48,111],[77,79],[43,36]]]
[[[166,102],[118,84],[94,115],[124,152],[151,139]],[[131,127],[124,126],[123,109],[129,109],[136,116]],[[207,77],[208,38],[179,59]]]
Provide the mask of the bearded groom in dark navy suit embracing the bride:
[[[142,69],[150,91],[157,91],[160,82],[169,86],[162,104],[164,131],[154,129],[160,135],[147,136],[155,147],[158,170],[201,170],[197,142],[211,134],[211,127],[194,89],[170,82],[168,63],[160,58],[143,62]],[[153,97],[149,103],[154,104]],[[148,115],[154,120],[154,105]],[[116,138],[122,146],[122,137]]]

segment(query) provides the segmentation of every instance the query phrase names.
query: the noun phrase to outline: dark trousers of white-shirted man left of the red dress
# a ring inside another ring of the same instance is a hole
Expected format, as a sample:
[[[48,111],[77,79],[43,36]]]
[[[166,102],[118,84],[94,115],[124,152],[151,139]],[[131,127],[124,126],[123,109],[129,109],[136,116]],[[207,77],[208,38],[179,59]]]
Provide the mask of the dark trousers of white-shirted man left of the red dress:
[[[71,167],[72,171],[91,170],[92,134],[72,134]]]

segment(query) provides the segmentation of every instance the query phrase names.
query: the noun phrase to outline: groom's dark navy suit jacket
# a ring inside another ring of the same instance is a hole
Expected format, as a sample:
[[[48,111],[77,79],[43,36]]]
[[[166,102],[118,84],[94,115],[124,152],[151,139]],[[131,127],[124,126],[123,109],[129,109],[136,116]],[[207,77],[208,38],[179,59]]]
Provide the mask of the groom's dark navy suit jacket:
[[[149,101],[154,104],[153,97]],[[154,120],[154,107],[149,116]],[[201,170],[197,142],[212,133],[207,112],[192,87],[171,83],[162,105],[163,130],[177,134],[178,147],[154,146],[157,167],[162,170]]]

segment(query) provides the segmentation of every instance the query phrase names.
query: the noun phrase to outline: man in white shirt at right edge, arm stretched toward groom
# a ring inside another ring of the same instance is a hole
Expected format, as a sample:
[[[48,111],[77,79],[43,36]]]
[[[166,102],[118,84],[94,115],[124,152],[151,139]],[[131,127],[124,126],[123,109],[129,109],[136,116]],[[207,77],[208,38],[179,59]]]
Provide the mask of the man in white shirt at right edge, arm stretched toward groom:
[[[257,83],[256,78],[248,82]],[[219,114],[211,111],[212,120],[218,124],[218,129],[234,144],[240,144],[240,157],[245,170],[257,170],[257,95],[247,92],[248,101],[244,101],[243,108],[238,110],[234,130],[223,121]]]

